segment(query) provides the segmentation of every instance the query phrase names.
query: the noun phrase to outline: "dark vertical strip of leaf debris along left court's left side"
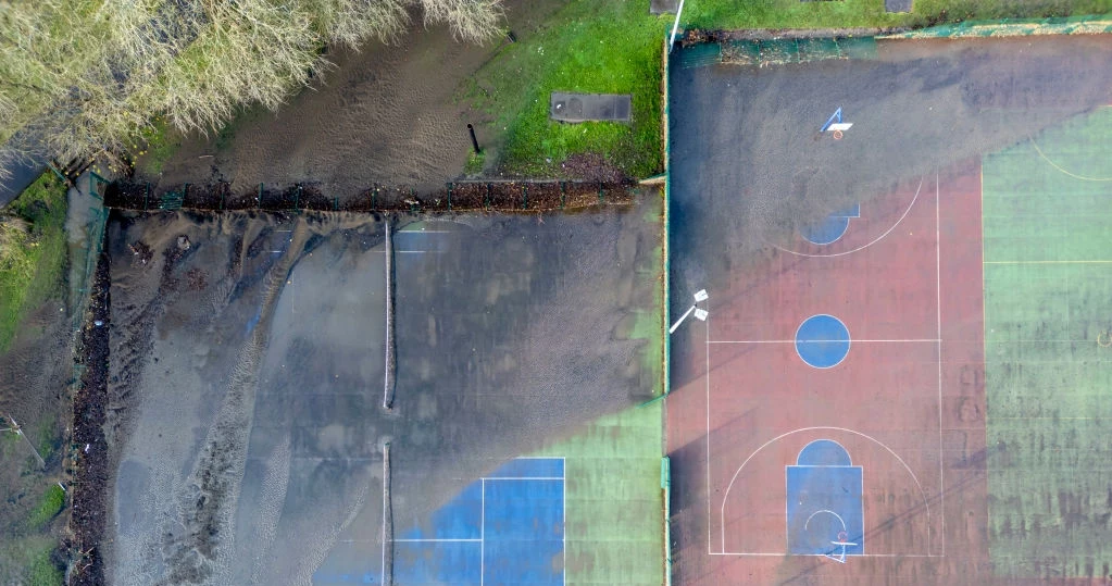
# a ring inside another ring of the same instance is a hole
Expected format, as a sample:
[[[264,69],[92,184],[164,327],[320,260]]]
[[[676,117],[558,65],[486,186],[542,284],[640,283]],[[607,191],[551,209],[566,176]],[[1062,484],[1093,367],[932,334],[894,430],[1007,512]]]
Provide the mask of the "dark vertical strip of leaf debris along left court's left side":
[[[73,473],[70,516],[70,586],[100,586],[105,582],[101,539],[105,534],[108,450],[105,443],[105,415],[108,404],[108,329],[93,324],[110,324],[109,260],[100,255],[92,280],[92,292],[76,356],[85,359],[80,385],[73,397],[73,439],[70,449]]]

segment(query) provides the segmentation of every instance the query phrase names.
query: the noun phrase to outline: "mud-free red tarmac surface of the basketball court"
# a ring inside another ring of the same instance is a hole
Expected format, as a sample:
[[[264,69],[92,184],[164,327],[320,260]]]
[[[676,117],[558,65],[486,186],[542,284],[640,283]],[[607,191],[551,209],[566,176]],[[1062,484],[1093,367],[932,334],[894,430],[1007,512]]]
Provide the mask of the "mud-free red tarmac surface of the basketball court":
[[[691,376],[668,399],[669,454],[683,451],[683,486],[701,493],[674,519],[683,584],[862,584],[897,566],[957,579],[987,559],[980,206],[980,165],[943,169],[863,201],[837,241],[797,238],[708,290],[707,321],[674,341],[691,345],[677,367]],[[828,368],[797,351],[817,315],[848,330]],[[860,498],[837,500],[860,513],[823,508],[845,495],[786,485],[820,439],[860,466]],[[807,507],[862,515],[860,555],[788,555],[800,529],[785,511]]]

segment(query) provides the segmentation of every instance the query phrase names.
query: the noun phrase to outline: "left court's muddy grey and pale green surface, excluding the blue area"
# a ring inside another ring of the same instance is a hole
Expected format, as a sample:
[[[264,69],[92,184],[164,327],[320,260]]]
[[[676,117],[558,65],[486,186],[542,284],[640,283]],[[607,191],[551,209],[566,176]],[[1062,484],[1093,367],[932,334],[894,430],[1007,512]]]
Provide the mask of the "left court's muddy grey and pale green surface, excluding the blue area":
[[[389,411],[384,218],[115,216],[109,578],[378,583],[389,441],[398,532],[559,450],[568,582],[659,583],[659,208],[393,218]]]

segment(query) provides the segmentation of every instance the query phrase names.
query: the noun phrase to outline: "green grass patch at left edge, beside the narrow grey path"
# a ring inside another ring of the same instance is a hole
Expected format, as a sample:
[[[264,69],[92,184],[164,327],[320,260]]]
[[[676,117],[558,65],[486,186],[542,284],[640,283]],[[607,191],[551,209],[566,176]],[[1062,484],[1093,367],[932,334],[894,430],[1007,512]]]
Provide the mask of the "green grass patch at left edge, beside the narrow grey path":
[[[0,351],[27,312],[60,294],[66,186],[47,171],[0,216]]]

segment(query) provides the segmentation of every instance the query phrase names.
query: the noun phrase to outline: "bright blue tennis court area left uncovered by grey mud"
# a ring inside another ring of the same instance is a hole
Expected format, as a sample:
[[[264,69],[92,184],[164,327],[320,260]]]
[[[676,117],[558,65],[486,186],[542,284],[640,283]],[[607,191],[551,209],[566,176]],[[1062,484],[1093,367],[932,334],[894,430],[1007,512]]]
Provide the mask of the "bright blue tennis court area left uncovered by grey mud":
[[[517,458],[394,542],[394,583],[564,584],[564,459]]]

